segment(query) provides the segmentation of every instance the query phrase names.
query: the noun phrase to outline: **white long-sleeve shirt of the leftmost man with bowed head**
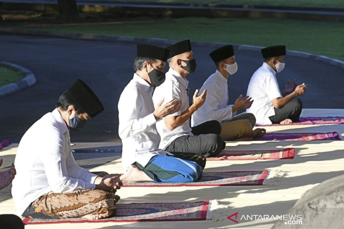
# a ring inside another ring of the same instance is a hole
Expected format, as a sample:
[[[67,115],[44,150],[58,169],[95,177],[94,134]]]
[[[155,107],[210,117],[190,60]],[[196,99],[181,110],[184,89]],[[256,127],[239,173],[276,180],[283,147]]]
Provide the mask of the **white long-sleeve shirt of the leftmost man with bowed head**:
[[[94,189],[96,175],[79,167],[68,127],[57,108],[45,114],[20,140],[14,161],[12,196],[18,214],[41,195]]]

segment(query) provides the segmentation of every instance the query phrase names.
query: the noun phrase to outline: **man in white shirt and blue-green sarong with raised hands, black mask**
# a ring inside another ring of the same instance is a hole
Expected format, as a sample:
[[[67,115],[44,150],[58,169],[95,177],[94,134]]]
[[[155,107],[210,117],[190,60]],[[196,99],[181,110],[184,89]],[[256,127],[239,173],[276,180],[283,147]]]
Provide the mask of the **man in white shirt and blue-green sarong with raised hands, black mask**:
[[[167,152],[159,149],[160,136],[155,124],[181,108],[180,100],[163,98],[154,109],[152,93],[165,80],[164,66],[169,50],[138,45],[133,79],[123,90],[119,102],[119,137],[122,139],[123,181],[186,183],[202,177],[205,157],[195,153]]]

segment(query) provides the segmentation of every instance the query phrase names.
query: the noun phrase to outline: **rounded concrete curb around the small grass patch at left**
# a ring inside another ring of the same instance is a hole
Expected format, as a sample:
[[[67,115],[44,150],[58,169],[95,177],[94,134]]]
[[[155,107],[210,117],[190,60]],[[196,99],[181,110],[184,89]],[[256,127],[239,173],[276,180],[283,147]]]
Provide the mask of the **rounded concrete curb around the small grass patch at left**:
[[[11,94],[13,92],[23,90],[24,88],[28,88],[32,86],[33,84],[35,84],[37,81],[33,73],[26,68],[23,68],[19,65],[15,65],[9,62],[3,62],[3,61],[0,62],[0,65],[12,68],[14,70],[21,71],[25,74],[25,77],[22,80],[0,87],[0,96]]]

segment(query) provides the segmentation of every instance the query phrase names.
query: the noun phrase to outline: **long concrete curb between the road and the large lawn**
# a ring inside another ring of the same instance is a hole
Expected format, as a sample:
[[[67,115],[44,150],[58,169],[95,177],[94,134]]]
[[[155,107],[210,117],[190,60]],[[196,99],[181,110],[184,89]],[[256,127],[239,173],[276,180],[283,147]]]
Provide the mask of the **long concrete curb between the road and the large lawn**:
[[[61,37],[61,38],[69,38],[69,39],[85,39],[85,40],[106,41],[106,42],[123,42],[123,43],[130,43],[130,44],[170,45],[175,42],[178,42],[177,40],[160,39],[160,38],[140,38],[140,37],[96,35],[96,34],[82,34],[82,33],[31,31],[31,30],[12,29],[12,28],[0,28],[0,34],[1,33],[50,36],[50,37],[53,36],[53,37]],[[191,43],[193,46],[213,47],[213,48],[219,48],[221,46],[228,45],[228,43],[220,43],[220,42],[191,42]],[[260,49],[264,48],[261,46],[252,46],[252,45],[238,45],[238,44],[232,44],[232,45],[239,50],[248,50],[248,51],[260,51]],[[314,55],[310,53],[305,53],[301,51],[292,51],[292,50],[287,50],[286,54],[288,56],[296,56],[296,57],[302,57],[302,58],[311,59],[315,61],[320,61],[320,62],[334,65],[334,66],[344,69],[344,61],[341,61],[338,59],[332,59],[326,56]]]

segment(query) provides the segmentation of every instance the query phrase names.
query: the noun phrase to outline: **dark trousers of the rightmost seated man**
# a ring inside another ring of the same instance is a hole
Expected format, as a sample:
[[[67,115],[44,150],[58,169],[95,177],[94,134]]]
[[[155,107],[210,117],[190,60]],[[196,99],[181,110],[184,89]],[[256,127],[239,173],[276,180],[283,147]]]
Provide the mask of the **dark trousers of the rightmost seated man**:
[[[269,117],[272,124],[278,124],[287,118],[290,118],[293,122],[299,122],[302,111],[302,102],[300,99],[294,98],[290,100],[286,105],[274,109],[275,115]]]

